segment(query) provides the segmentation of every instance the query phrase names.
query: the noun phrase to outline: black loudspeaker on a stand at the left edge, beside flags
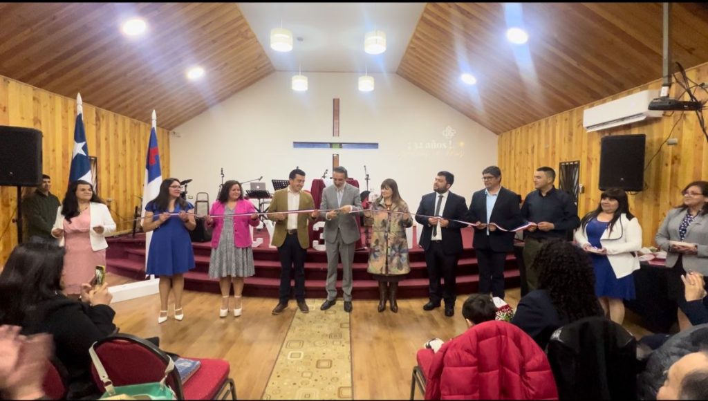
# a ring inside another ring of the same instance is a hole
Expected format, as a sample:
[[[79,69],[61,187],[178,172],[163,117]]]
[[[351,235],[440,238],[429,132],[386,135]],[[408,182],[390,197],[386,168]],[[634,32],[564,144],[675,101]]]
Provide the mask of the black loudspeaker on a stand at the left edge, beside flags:
[[[0,186],[42,182],[42,132],[0,125]]]

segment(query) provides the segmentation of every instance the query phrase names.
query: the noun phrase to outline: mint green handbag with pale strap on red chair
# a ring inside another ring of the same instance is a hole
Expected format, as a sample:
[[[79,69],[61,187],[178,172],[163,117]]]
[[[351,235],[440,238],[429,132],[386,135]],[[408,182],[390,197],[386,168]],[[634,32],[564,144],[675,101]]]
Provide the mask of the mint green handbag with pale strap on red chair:
[[[103,387],[105,387],[105,392],[103,393],[103,395],[101,395],[100,398],[101,400],[109,397],[113,398],[118,395],[125,395],[135,400],[177,399],[175,392],[169,387],[169,385],[166,384],[167,377],[175,368],[175,363],[172,361],[172,358],[168,358],[169,363],[167,363],[164,378],[162,378],[162,380],[160,380],[159,382],[114,386],[113,382],[110,381],[110,378],[108,378],[108,373],[105,372],[105,368],[103,368],[103,363],[101,363],[101,359],[98,358],[96,351],[94,351],[93,349],[93,346],[95,345],[96,343],[93,343],[93,345],[91,345],[91,348],[89,349],[89,354],[91,354],[91,361],[93,361],[93,366],[96,366],[96,372],[98,372],[98,376],[101,378],[101,383],[103,383]]]

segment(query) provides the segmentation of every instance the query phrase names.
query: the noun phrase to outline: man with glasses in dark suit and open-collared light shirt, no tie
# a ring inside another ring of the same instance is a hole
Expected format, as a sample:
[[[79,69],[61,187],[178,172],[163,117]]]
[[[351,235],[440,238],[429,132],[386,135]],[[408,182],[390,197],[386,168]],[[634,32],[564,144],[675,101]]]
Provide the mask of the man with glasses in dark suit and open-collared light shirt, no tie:
[[[519,196],[501,186],[501,169],[489,166],[482,171],[484,189],[472,194],[469,222],[478,223],[472,246],[479,265],[479,292],[504,298],[506,254],[514,250],[514,232],[523,224]],[[491,223],[495,223],[491,225]]]

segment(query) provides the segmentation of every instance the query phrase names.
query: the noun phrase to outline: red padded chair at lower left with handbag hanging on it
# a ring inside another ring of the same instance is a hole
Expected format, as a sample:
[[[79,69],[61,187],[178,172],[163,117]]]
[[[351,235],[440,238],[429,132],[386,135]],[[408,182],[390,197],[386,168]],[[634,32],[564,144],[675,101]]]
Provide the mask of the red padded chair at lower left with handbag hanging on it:
[[[159,382],[164,377],[169,356],[154,344],[130,334],[113,334],[96,341],[93,346],[103,363],[113,385],[131,385]],[[182,383],[177,369],[167,378],[167,385],[174,390],[178,400],[225,400],[229,393],[236,400],[236,385],[229,378],[229,363],[223,359],[190,358],[200,361],[194,375]],[[101,392],[105,391],[95,366],[91,366],[93,382]],[[227,391],[225,391],[227,390]]]

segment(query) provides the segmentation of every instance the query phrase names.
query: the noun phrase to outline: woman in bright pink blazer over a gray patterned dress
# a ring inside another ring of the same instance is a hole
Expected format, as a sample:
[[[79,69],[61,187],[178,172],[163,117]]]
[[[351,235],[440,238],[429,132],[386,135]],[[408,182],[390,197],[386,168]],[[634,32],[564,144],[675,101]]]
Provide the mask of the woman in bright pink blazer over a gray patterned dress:
[[[258,225],[256,208],[250,200],[244,199],[244,191],[239,181],[229,180],[222,186],[219,198],[212,205],[207,216],[207,225],[214,227],[212,233],[212,257],[209,262],[209,276],[219,278],[222,305],[219,317],[229,314],[229,292],[234,286],[234,316],[241,316],[241,293],[244,291],[244,277],[253,276],[253,239],[249,225]],[[235,216],[242,213],[251,215]],[[226,215],[213,217],[212,215]]]

